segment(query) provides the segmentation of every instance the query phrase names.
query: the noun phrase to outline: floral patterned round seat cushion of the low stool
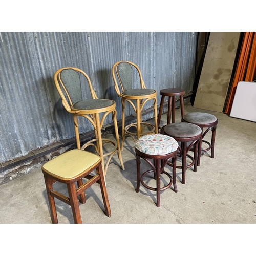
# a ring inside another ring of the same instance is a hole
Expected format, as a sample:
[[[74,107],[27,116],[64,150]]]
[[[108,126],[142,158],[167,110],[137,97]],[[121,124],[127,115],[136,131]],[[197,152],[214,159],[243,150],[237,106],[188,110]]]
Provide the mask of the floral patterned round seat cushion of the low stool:
[[[167,135],[149,134],[136,140],[134,146],[144,154],[166,155],[177,150],[178,142]]]

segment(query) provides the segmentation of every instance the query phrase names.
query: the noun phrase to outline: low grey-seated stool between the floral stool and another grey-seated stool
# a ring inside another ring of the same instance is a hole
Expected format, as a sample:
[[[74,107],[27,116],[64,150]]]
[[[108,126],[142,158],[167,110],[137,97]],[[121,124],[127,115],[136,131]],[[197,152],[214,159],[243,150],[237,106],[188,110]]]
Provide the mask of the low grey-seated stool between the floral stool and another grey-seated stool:
[[[179,146],[178,156],[182,158],[182,166],[176,166],[176,168],[182,169],[182,183],[186,181],[186,169],[194,165],[194,172],[197,172],[197,153],[198,144],[202,135],[201,128],[192,123],[170,123],[162,127],[161,134],[173,137],[176,141],[181,142]],[[187,145],[187,142],[190,144]],[[191,147],[194,146],[194,157],[188,154]],[[186,164],[186,158],[191,159],[190,164]],[[172,166],[172,163],[168,163]]]

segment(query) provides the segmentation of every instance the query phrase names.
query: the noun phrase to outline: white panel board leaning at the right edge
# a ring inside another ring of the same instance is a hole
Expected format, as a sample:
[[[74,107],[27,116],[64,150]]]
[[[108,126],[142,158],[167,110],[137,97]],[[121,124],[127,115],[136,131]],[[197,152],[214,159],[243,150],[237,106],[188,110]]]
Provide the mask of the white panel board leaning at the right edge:
[[[241,81],[238,83],[236,93],[234,94],[230,117],[256,122],[255,82]]]

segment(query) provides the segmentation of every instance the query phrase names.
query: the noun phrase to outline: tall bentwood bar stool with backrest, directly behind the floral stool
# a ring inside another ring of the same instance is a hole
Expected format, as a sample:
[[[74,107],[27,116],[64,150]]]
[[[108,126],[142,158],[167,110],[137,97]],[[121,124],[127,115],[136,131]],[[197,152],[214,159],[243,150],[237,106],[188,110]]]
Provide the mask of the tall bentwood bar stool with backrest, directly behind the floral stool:
[[[122,146],[126,136],[134,142],[146,134],[158,134],[157,127],[157,91],[147,89],[137,65],[130,61],[116,62],[112,67],[114,87],[122,103]],[[142,111],[148,101],[153,101],[155,125],[142,121]],[[125,125],[125,102],[132,106],[136,113],[136,122]],[[133,128],[137,131],[134,132]]]

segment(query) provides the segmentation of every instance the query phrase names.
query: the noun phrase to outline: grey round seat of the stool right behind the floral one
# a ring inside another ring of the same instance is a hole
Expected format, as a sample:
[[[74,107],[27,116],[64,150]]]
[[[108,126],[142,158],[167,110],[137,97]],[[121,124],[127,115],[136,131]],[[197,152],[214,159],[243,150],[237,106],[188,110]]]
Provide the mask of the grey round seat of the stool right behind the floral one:
[[[177,138],[190,138],[200,135],[202,130],[192,123],[170,123],[164,126],[164,132]]]

